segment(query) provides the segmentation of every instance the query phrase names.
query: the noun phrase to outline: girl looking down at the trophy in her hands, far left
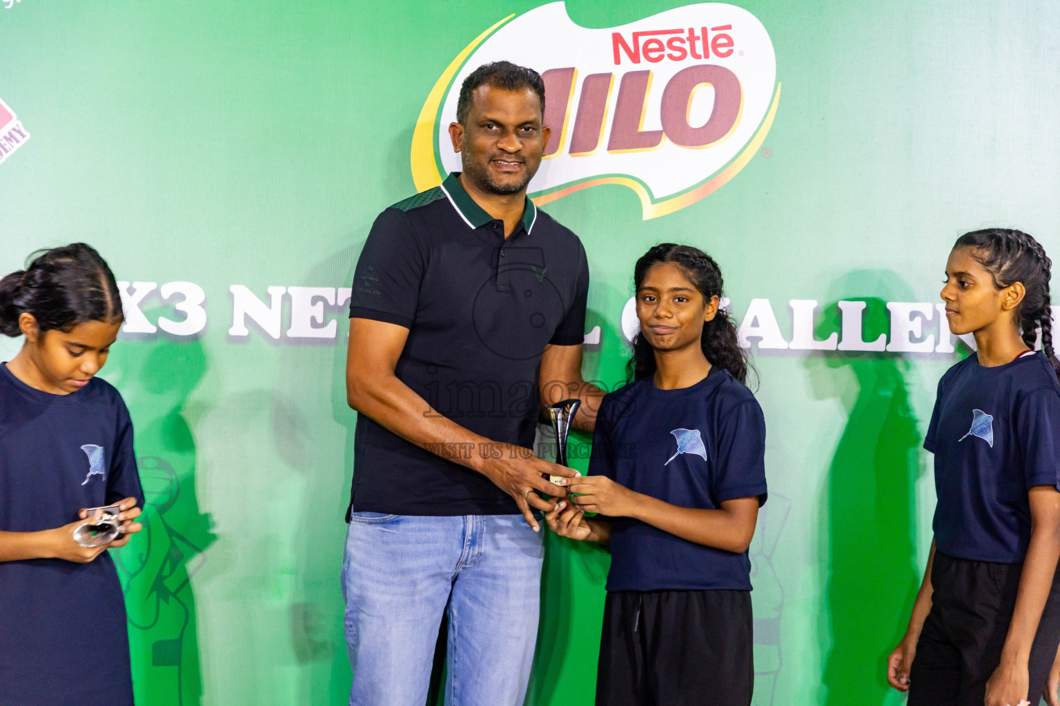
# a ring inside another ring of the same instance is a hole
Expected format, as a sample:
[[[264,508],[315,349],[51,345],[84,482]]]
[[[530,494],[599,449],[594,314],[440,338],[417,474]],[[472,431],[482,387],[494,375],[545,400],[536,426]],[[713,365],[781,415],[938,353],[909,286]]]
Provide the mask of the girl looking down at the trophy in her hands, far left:
[[[0,704],[132,704],[125,603],[105,549],[140,531],[143,493],[128,411],[94,377],[122,320],[114,276],[84,243],[0,279],[0,332],[25,337],[0,363]],[[87,509],[109,505],[117,539],[82,546]]]

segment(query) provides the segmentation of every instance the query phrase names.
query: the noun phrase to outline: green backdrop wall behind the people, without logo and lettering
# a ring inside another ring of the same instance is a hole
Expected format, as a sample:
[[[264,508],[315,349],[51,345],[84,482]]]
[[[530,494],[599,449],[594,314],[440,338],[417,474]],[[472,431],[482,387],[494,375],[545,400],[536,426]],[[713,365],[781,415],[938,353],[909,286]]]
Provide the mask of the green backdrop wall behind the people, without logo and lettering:
[[[122,280],[205,293],[201,331],[126,331],[103,373],[131,410],[149,497],[118,557],[138,703],[346,703],[343,307],[317,300],[332,338],[288,336],[293,293],[277,294],[279,336],[241,336],[233,309],[249,300],[231,287],[262,307],[270,287],[349,287],[374,216],[414,191],[412,132],[435,83],[536,4],[0,1],[0,99],[32,135],[0,161],[0,271],[86,240]],[[567,11],[611,28],[681,4]],[[788,342],[797,319],[827,340],[837,303],[861,301],[864,340],[894,343],[887,303],[933,306],[967,230],[1013,225],[1060,253],[1060,5],[737,4],[768,32],[783,84],[764,149],[659,218],[620,185],[545,206],[588,252],[601,340],[587,378],[622,379],[633,263],[658,241],[709,251],[737,318],[768,300]],[[180,321],[180,300],[154,290],[139,308]],[[922,333],[937,343],[937,314]],[[752,549],[755,703],[900,703],[884,659],[930,543],[921,442],[936,381],[968,348],[753,342],[771,489]],[[0,342],[2,358],[18,345]],[[528,703],[589,704],[608,558],[546,543]]]

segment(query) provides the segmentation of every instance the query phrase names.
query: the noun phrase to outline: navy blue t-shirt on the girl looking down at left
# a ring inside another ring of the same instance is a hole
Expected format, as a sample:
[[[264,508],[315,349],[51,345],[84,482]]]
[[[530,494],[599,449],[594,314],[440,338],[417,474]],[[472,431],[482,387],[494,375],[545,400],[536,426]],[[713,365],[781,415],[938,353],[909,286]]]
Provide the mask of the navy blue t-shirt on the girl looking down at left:
[[[125,497],[143,504],[118,391],[93,378],[50,395],[0,363],[0,530],[61,527],[82,508]],[[132,704],[125,602],[109,554],[87,564],[0,562],[0,704],[93,703]]]

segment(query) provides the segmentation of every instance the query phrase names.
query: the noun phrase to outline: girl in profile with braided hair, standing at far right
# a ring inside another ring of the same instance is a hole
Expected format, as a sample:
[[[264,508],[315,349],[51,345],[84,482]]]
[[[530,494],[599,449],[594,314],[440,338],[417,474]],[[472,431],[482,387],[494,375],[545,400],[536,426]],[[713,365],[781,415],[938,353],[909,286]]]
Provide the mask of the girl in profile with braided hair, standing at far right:
[[[976,354],[942,376],[924,439],[935,454],[934,540],[887,665],[909,706],[1037,704],[1043,688],[1057,704],[1060,362],[1049,268],[1038,241],[1001,229],[962,235],[946,265],[950,330],[972,333]]]

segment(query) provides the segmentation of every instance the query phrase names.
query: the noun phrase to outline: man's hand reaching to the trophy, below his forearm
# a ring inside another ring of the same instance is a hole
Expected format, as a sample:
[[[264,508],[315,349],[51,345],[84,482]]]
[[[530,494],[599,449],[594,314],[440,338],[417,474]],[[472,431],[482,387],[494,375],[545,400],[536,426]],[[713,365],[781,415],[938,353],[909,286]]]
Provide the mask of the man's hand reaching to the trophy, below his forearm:
[[[515,500],[519,512],[535,532],[541,531],[541,525],[534,520],[530,508],[551,510],[554,503],[541,497],[534,491],[540,490],[546,495],[564,497],[567,489],[551,483],[547,476],[562,475],[561,483],[566,484],[567,478],[581,475],[572,468],[543,460],[523,447],[511,443],[497,443],[497,452],[493,455],[495,457],[490,458],[482,467],[482,475]]]

